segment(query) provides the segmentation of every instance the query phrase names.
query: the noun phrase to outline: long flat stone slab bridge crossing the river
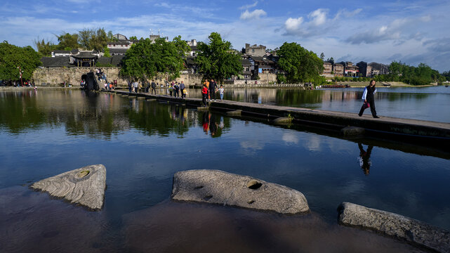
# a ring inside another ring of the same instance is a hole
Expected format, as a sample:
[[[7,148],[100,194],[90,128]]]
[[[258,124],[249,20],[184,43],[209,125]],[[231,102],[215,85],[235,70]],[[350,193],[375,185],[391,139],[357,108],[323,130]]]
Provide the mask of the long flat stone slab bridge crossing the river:
[[[183,99],[167,95],[130,93],[128,91],[102,92],[116,93],[122,96],[135,96],[143,99],[155,99],[164,103],[176,103],[186,105],[187,107],[206,109],[201,108],[200,98]],[[371,115],[359,117],[357,112],[333,112],[308,108],[243,103],[232,100],[209,102],[209,110],[229,112],[228,115],[232,117],[240,117],[239,115],[242,115],[263,118],[273,124],[280,122],[281,124],[289,123],[316,126],[321,129],[340,131],[344,136],[364,135],[387,138],[389,140],[421,145],[432,145],[433,148],[442,149],[450,146],[450,123],[384,117],[383,115],[378,119],[374,119]]]

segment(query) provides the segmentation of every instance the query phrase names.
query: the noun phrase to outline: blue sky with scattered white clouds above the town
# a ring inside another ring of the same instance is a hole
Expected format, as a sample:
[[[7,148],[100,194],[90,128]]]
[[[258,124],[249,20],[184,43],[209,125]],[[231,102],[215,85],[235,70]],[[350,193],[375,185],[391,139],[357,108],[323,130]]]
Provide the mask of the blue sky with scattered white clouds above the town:
[[[0,3],[0,41],[58,43],[55,34],[103,27],[126,37],[158,31],[208,41],[219,32],[240,50],[296,42],[325,60],[393,60],[450,70],[450,1],[18,0]]]

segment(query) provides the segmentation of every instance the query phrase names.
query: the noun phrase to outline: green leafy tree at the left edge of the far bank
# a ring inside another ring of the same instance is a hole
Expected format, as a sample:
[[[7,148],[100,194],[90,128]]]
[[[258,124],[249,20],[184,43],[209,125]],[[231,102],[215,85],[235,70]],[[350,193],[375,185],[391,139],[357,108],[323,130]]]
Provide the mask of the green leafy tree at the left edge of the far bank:
[[[31,79],[36,67],[41,65],[40,58],[31,46],[19,47],[3,41],[0,43],[0,80],[20,80],[18,67],[22,70],[22,79]]]

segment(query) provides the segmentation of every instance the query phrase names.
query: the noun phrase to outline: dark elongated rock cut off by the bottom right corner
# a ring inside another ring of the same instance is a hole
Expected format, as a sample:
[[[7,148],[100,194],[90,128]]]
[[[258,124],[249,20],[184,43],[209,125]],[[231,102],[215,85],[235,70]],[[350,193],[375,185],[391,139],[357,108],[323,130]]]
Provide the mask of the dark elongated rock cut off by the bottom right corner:
[[[399,214],[343,202],[338,207],[339,223],[369,229],[422,245],[437,252],[450,252],[450,232]]]

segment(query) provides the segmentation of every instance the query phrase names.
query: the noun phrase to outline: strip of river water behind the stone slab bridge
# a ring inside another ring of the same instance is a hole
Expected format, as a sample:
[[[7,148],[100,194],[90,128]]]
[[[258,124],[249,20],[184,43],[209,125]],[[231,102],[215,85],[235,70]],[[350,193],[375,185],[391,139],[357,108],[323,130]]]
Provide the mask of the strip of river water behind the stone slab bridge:
[[[269,105],[358,113],[364,88],[319,89],[226,89],[225,99]],[[190,96],[201,98],[199,89]],[[450,88],[377,87],[376,111],[380,116],[450,122]],[[365,113],[370,115],[369,110]]]

